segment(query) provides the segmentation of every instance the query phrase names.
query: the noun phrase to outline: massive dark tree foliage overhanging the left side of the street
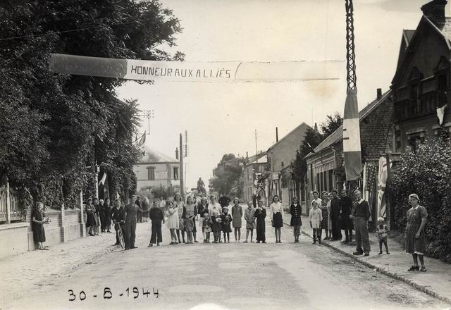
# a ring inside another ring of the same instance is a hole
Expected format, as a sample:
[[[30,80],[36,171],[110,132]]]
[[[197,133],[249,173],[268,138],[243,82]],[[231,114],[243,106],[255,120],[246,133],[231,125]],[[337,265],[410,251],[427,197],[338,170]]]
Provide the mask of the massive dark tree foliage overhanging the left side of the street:
[[[0,41],[0,173],[51,206],[93,194],[95,163],[112,192],[135,192],[138,109],[116,98],[123,80],[54,75],[49,56],[181,60],[159,49],[181,31],[172,11],[156,0],[9,1],[0,27],[15,37]]]

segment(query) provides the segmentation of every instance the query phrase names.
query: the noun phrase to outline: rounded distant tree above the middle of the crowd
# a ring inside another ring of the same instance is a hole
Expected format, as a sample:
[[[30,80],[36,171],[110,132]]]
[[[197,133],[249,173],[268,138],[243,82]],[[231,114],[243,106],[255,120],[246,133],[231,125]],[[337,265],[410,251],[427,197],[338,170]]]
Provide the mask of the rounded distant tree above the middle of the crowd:
[[[216,178],[213,180],[214,190],[231,197],[242,197],[242,165],[245,159],[234,154],[224,154],[221,162],[214,169]]]

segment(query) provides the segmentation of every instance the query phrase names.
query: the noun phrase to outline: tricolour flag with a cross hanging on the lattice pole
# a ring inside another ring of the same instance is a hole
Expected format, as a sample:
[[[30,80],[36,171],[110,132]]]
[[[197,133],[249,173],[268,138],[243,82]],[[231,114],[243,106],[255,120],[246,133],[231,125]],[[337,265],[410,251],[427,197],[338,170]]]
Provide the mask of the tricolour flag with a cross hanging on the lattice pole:
[[[343,154],[345,155],[346,180],[360,178],[362,173],[362,154],[360,152],[359,107],[357,89],[347,91],[343,118]]]

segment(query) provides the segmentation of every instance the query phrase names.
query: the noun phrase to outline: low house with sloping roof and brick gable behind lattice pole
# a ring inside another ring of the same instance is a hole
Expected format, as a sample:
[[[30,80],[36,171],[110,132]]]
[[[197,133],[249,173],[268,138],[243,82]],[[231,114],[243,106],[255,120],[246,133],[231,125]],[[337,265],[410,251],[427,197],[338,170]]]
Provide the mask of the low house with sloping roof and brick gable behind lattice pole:
[[[366,171],[377,171],[381,154],[393,149],[393,98],[392,90],[381,94],[378,89],[376,100],[359,112],[360,142],[362,147],[362,161]],[[345,183],[345,167],[343,157],[343,128],[326,137],[315,147],[314,152],[308,154],[307,160],[307,206],[313,198],[314,190],[330,192],[333,188],[342,190]],[[376,181],[376,180],[375,180]],[[376,210],[376,184],[367,184],[369,202]],[[307,209],[303,210],[307,213]]]

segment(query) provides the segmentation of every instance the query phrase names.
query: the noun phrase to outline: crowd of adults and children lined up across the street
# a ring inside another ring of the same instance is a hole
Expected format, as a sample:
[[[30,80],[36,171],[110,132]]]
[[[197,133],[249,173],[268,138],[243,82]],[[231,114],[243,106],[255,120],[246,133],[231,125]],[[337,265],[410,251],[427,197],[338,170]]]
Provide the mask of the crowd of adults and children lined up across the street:
[[[345,190],[332,190],[313,192],[311,208],[309,210],[309,225],[313,230],[313,243],[321,244],[322,240],[340,240],[342,244],[352,242],[353,231],[355,231],[355,241],[357,244],[354,255],[369,256],[371,251],[369,242],[368,221],[371,216],[369,203],[362,199],[359,191],[354,192],[354,201],[347,196]],[[152,221],[152,233],[148,247],[154,244],[159,246],[162,240],[161,228],[167,218],[167,228],[171,233],[173,244],[192,244],[199,242],[199,235],[202,231],[202,242],[205,243],[230,243],[230,233],[235,236],[235,242],[241,242],[241,228],[245,228],[246,237],[243,242],[254,242],[254,230],[256,231],[255,241],[266,243],[266,208],[263,202],[258,199],[257,205],[252,201],[247,202],[247,207],[243,210],[240,206],[240,199],[233,199],[233,206],[229,209],[230,199],[226,195],[221,195],[216,202],[214,195],[207,197],[204,193],[188,195],[183,201],[180,194],[167,201],[159,199],[149,204],[149,199],[132,196],[132,203],[124,206],[121,199],[116,199],[113,206],[110,199],[98,200],[97,198],[87,200],[87,228],[88,234],[99,235],[100,232],[111,233],[111,224],[116,230],[116,245],[119,244],[118,230],[121,227],[124,233],[125,249],[135,249],[136,223]],[[407,233],[406,252],[411,253],[414,265],[409,271],[426,271],[424,267],[425,235],[424,225],[426,223],[427,212],[423,206],[419,206],[419,197],[416,194],[409,196],[409,204],[412,209],[407,212]],[[276,243],[281,243],[280,235],[283,227],[283,206],[278,195],[274,195],[269,206],[269,218],[271,226],[274,228]],[[299,199],[294,197],[290,204],[290,225],[294,235],[294,242],[299,242],[302,226],[302,208]],[[243,217],[244,216],[244,217]],[[244,218],[244,220],[243,220]],[[35,221],[35,219],[33,220]],[[42,221],[39,216],[36,221]],[[388,227],[383,218],[378,218],[376,233],[379,242],[379,254],[388,251]],[[343,239],[342,231],[345,233]],[[323,237],[323,232],[324,236]],[[42,235],[43,229],[37,230],[36,235]],[[200,239],[199,239],[200,240]],[[44,247],[43,247],[44,248]],[[421,268],[418,264],[421,263]]]

